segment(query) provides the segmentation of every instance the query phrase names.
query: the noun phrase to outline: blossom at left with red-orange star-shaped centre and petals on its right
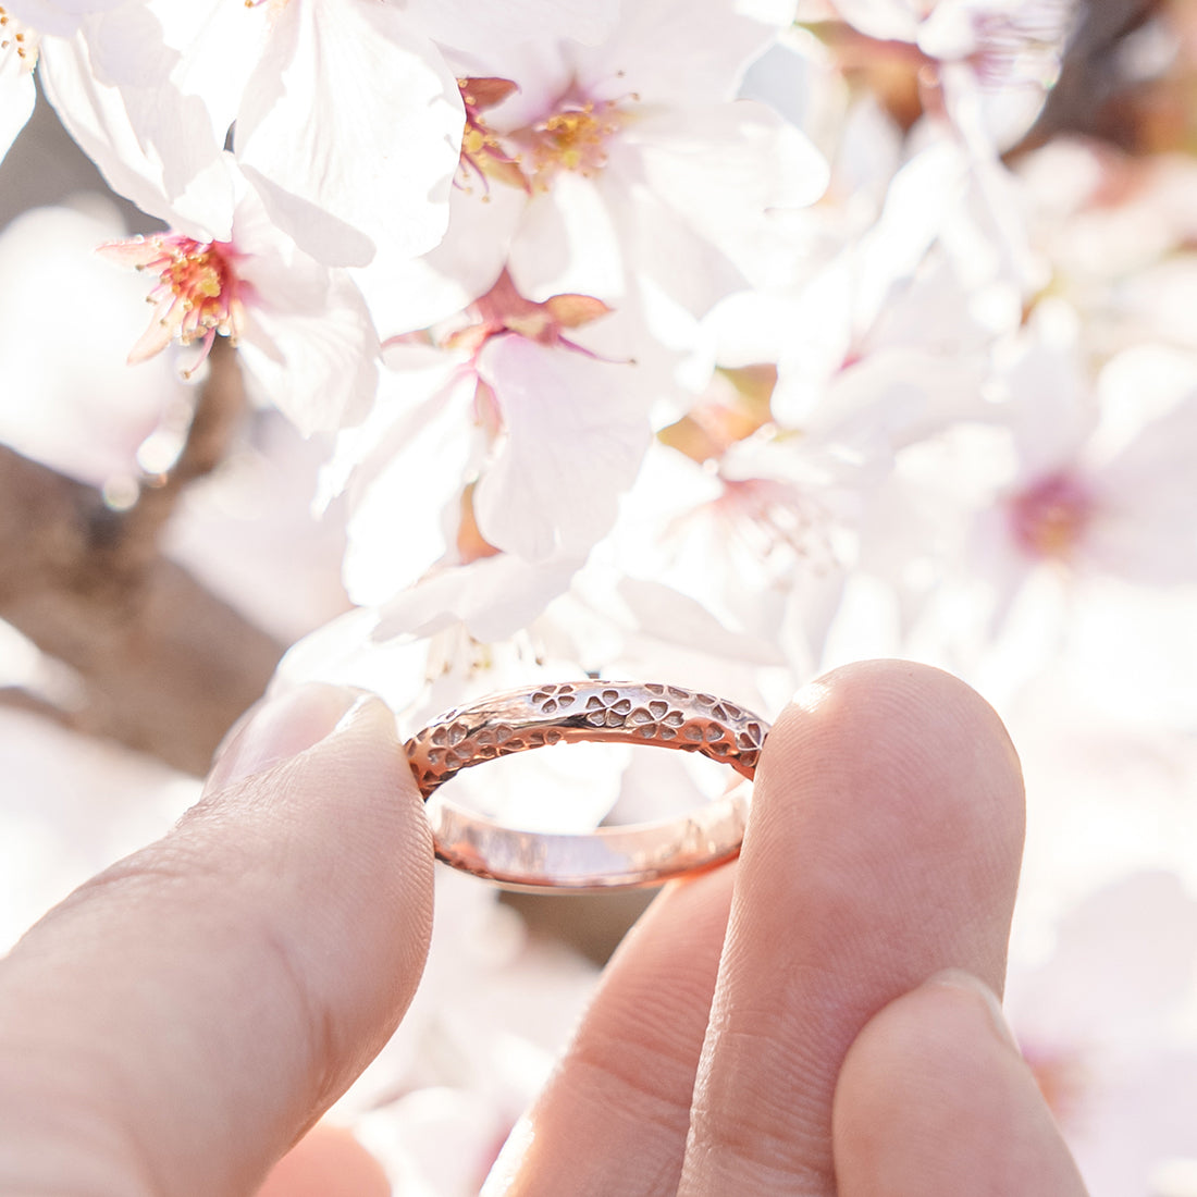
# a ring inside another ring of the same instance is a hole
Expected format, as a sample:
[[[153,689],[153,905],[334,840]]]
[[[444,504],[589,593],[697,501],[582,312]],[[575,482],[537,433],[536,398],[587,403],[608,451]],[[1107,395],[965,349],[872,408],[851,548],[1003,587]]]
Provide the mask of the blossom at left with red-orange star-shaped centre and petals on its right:
[[[237,345],[251,385],[302,432],[354,423],[373,399],[378,341],[365,302],[344,271],[321,266],[267,218],[262,201],[223,159],[239,195],[230,236],[170,231],[110,242],[102,253],[157,279],[138,363],[171,341],[195,346],[190,375],[220,334]]]

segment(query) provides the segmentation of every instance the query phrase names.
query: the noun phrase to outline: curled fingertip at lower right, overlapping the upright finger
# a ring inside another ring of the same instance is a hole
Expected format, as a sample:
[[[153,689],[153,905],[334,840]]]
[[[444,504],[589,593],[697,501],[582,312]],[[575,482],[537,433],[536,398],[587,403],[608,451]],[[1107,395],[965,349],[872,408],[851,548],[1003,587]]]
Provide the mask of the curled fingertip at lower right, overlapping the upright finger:
[[[839,1197],[1084,1197],[997,998],[967,973],[932,977],[864,1027],[833,1128]]]

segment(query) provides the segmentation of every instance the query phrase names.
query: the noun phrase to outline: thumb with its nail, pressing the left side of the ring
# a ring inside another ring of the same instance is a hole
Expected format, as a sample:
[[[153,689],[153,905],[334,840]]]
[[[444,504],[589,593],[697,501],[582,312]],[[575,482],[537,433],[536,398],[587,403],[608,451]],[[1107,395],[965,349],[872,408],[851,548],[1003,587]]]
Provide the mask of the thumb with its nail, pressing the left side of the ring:
[[[431,893],[390,711],[260,709],[165,839],[0,962],[0,1191],[251,1191],[399,1022]]]

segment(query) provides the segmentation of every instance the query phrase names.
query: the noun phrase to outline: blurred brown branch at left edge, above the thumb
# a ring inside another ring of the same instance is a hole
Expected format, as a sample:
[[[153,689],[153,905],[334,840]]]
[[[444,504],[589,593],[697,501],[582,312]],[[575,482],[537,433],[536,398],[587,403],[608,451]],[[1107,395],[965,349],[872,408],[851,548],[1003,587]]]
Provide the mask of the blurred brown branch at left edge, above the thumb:
[[[176,467],[128,511],[0,446],[0,618],[79,674],[86,701],[67,723],[192,773],[282,652],[158,549],[178,494],[224,457],[242,409],[231,356],[213,356]]]

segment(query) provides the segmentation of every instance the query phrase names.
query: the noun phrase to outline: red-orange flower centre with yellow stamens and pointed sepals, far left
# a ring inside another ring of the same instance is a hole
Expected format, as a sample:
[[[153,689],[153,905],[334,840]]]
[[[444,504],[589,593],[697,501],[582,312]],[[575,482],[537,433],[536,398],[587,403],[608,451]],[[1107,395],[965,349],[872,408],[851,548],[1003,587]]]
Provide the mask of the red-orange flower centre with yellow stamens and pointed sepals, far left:
[[[226,242],[200,242],[182,233],[156,233],[101,245],[99,251],[122,266],[158,277],[150,292],[153,320],[129,353],[144,361],[170,341],[200,342],[200,351],[184,369],[190,375],[208,356],[217,334],[235,345],[244,328],[244,298],[249,287],[236,272],[237,251]]]

